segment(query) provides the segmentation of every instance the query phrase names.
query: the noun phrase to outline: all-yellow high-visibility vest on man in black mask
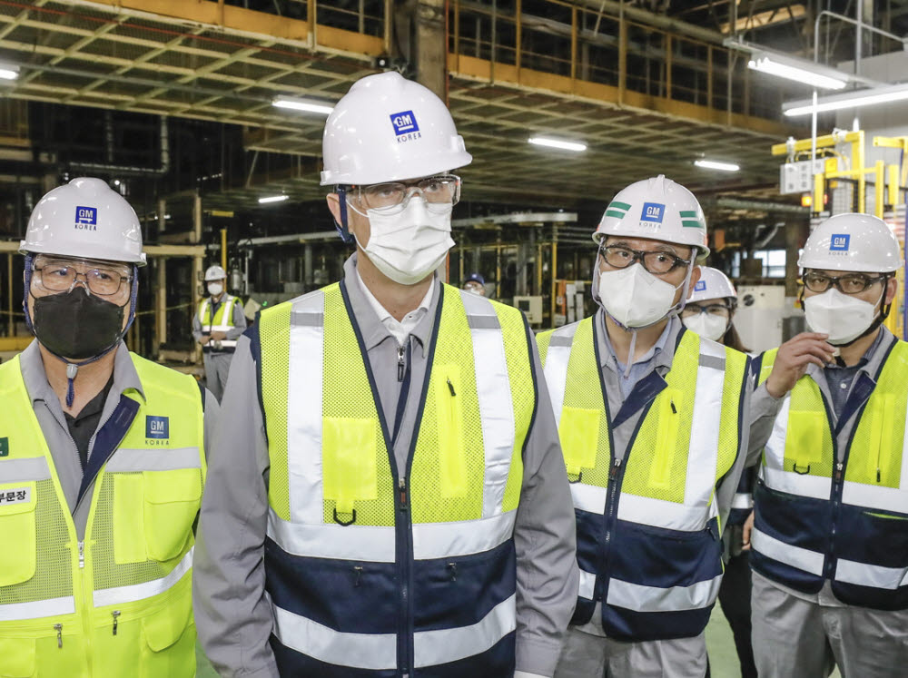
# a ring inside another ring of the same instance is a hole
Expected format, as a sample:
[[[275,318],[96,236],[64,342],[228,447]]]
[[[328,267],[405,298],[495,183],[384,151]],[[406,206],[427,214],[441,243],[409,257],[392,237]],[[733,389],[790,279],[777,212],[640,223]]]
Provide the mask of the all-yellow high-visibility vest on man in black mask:
[[[91,501],[84,541],[19,359],[0,366],[2,676],[195,674],[192,523],[205,474],[202,398],[191,377],[132,359],[145,398],[123,394],[99,429],[123,438],[93,495],[84,496]]]

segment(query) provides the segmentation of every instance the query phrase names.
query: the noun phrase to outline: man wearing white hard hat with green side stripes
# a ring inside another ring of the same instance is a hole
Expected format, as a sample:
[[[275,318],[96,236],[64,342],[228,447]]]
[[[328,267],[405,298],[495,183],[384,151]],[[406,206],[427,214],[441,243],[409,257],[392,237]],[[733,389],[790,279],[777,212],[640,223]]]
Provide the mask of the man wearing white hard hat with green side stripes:
[[[538,337],[580,566],[556,676],[703,678],[720,526],[745,461],[748,358],[677,318],[708,253],[686,188],[631,184],[593,240],[600,309]]]

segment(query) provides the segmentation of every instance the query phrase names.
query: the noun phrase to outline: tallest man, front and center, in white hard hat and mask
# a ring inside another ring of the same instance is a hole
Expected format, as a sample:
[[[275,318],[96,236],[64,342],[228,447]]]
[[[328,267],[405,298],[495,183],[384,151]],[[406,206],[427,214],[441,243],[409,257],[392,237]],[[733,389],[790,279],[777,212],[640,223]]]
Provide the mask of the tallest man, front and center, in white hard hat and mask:
[[[228,676],[551,676],[574,517],[518,310],[443,285],[469,164],[389,72],[325,125],[343,280],[237,346],[202,506],[196,624]]]

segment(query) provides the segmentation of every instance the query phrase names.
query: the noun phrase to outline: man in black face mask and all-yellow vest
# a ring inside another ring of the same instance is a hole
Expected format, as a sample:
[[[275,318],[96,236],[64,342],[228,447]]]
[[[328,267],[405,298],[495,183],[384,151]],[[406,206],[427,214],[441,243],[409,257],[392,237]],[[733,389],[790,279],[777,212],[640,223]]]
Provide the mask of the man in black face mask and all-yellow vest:
[[[0,367],[0,674],[193,676],[217,403],[126,349],[142,229],[105,182],[47,193],[20,251],[37,340]]]

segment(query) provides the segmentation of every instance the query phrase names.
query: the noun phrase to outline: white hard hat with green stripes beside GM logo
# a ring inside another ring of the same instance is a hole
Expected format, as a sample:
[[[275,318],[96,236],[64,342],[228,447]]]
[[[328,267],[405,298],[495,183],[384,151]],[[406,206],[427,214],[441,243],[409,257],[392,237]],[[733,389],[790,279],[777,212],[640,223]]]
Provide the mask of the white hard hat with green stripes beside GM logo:
[[[706,247],[706,218],[694,194],[662,174],[632,183],[608,203],[593,241],[607,235],[649,238],[700,249]]]

